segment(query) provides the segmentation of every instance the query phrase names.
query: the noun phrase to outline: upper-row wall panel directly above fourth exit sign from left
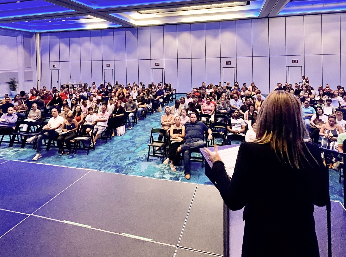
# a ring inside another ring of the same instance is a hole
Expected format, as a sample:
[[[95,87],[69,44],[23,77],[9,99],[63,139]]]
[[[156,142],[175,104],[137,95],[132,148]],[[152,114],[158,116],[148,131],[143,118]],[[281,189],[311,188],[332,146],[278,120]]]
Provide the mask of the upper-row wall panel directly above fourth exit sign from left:
[[[220,52],[221,57],[236,57],[236,22],[220,22]]]

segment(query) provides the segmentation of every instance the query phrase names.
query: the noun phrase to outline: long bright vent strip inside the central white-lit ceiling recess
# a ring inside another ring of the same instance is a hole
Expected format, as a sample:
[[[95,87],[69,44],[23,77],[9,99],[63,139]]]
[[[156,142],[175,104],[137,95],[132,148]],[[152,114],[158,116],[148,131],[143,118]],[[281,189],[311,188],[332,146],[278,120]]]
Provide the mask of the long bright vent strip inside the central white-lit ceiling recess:
[[[203,4],[203,5],[185,6],[185,7],[167,8],[167,9],[142,10],[142,11],[138,11],[138,12],[141,14],[149,14],[149,13],[159,13],[159,12],[191,11],[191,10],[200,10],[200,9],[213,9],[213,8],[244,6],[244,5],[249,5],[249,4],[250,4],[250,1],[230,2],[230,3],[215,3],[215,4]]]

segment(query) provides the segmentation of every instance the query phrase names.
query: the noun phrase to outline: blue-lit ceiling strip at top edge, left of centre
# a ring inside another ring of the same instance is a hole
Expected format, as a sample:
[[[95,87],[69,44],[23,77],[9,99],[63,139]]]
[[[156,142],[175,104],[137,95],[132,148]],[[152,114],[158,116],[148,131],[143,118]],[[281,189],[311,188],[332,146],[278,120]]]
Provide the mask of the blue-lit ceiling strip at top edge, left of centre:
[[[83,4],[85,6],[91,7],[93,9],[103,9],[103,8],[116,8],[116,7],[126,7],[126,6],[138,6],[145,4],[158,4],[158,3],[175,3],[184,2],[186,0],[72,0],[74,2]]]

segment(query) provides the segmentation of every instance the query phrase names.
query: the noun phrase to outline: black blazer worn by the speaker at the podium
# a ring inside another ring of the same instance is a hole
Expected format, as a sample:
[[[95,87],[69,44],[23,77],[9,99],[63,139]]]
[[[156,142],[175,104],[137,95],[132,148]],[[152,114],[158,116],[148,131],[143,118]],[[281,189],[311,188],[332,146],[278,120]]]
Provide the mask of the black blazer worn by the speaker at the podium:
[[[244,142],[231,180],[221,161],[206,173],[229,209],[245,206],[242,257],[319,256],[313,205],[329,201],[328,175],[318,147],[306,145],[318,163],[306,150],[305,168],[281,162],[270,144]]]

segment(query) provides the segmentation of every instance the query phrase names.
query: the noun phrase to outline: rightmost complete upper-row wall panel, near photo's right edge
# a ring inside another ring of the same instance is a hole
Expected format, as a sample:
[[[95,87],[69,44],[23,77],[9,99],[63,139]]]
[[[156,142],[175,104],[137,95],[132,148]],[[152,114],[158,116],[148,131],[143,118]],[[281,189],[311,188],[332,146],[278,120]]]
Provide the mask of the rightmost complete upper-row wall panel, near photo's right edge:
[[[322,15],[322,54],[340,54],[340,14]]]

